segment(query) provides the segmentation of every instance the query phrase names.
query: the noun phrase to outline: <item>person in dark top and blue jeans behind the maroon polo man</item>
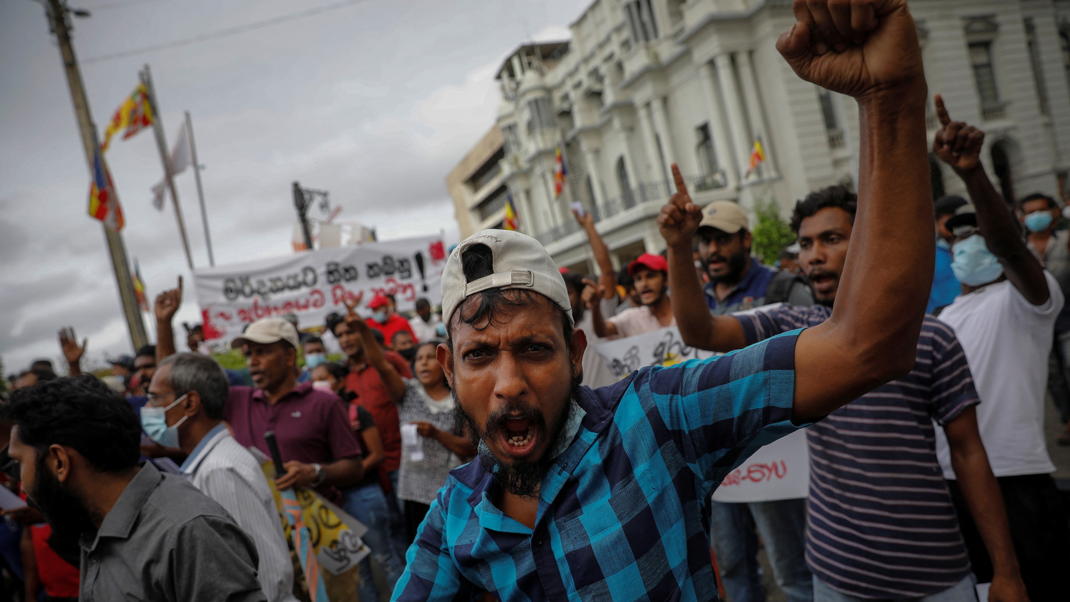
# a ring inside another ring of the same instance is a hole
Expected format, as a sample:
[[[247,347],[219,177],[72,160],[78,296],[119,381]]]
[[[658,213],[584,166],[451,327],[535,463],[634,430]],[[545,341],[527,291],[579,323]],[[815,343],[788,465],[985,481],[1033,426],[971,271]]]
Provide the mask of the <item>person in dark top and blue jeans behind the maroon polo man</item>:
[[[360,405],[352,403],[355,395],[345,390],[346,376],[349,368],[342,364],[320,364],[312,370],[312,386],[330,389],[346,402],[349,422],[357,438],[364,446],[364,478],[355,485],[342,491],[345,501],[342,510],[364,523],[368,531],[364,534],[364,543],[371,550],[371,555],[383,571],[386,587],[394,589],[394,584],[404,570],[402,559],[392,544],[391,515],[386,506],[386,496],[379,484],[379,464],[384,458],[383,441],[379,435],[371,414]],[[361,600],[379,600],[374,581],[371,578],[371,559],[366,556],[360,564],[361,568]]]

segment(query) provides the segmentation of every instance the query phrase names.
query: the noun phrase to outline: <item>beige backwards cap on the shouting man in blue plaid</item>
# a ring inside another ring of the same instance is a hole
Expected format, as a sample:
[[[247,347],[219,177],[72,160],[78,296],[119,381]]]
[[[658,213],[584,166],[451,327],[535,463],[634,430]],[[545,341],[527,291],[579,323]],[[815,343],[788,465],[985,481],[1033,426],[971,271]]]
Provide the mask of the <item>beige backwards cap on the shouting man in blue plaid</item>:
[[[464,277],[461,256],[472,245],[487,245],[494,257],[493,273],[471,282]],[[457,245],[442,271],[442,318],[447,324],[469,295],[487,289],[522,289],[540,293],[572,320],[568,289],[542,245],[513,230],[480,230]]]

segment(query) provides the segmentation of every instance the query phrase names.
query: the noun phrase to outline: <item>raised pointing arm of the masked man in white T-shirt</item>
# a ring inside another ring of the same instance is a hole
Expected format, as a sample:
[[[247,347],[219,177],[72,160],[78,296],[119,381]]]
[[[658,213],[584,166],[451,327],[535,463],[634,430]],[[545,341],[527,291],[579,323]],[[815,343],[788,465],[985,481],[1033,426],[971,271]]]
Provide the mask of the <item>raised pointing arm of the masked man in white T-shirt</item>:
[[[943,127],[933,138],[933,152],[966,183],[966,191],[977,210],[977,228],[984,246],[996,256],[1007,279],[1029,303],[1048,303],[1050,293],[1044,268],[1025,246],[1018,220],[981,164],[984,133],[964,122],[951,121],[939,94],[936,95],[936,117]]]

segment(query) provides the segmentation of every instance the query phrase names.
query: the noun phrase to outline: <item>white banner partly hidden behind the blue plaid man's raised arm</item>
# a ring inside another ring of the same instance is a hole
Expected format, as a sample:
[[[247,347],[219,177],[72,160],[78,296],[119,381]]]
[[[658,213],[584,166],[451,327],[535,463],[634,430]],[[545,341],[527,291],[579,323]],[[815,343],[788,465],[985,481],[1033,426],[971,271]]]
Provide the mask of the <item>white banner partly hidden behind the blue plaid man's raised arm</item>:
[[[644,366],[672,366],[719,355],[684,344],[675,326],[595,345],[610,371],[624,377]],[[769,501],[806,497],[810,458],[798,431],[759,449],[714,492],[717,501]]]

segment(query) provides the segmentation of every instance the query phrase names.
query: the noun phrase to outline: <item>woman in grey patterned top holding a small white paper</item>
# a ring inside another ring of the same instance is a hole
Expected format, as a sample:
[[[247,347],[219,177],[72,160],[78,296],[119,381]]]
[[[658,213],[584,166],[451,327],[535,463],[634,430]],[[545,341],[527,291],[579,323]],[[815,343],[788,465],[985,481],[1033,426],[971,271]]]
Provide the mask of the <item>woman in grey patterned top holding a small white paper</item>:
[[[406,538],[413,541],[416,529],[434,500],[449,470],[475,456],[472,442],[460,432],[454,419],[454,398],[446,375],[434,356],[440,341],[424,341],[416,348],[412,371],[406,380],[406,393],[398,402],[401,425],[416,425],[424,459],[413,462],[401,452],[398,499],[404,501]]]

